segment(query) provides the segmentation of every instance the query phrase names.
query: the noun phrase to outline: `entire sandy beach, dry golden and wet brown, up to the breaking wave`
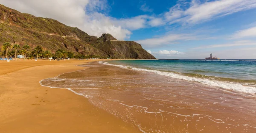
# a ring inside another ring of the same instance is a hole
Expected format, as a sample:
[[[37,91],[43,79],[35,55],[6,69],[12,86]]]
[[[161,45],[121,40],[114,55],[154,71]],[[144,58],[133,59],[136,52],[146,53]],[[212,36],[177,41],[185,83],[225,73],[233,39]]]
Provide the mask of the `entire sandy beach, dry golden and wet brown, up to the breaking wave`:
[[[0,61],[0,133],[254,133],[254,104],[102,60]]]

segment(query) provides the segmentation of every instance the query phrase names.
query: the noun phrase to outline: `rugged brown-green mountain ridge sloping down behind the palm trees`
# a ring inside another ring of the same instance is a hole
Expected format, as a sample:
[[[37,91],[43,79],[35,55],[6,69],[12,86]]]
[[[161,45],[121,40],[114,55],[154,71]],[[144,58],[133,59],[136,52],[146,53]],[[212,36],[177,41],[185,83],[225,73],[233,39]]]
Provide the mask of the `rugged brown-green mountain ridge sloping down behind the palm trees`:
[[[57,20],[23,14],[0,4],[0,45],[4,42],[105,58],[154,59],[136,42],[118,41],[111,34],[97,38]]]

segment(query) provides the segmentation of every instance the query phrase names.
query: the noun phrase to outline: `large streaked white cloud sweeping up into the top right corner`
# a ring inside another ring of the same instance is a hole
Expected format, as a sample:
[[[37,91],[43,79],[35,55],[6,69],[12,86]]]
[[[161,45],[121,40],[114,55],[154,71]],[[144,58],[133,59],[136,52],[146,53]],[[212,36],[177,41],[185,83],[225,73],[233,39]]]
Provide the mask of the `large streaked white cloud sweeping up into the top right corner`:
[[[186,8],[186,5],[189,8]],[[215,0],[210,2],[192,0],[191,3],[181,1],[170,8],[164,17],[169,24],[174,22],[197,24],[251,8],[256,8],[256,0]]]

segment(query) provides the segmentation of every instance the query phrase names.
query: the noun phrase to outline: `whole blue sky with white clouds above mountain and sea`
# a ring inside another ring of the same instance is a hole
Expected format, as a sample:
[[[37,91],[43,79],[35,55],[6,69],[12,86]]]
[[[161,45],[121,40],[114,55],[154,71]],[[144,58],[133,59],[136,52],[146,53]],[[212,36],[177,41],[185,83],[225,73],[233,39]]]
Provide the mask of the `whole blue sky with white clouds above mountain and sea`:
[[[0,0],[89,35],[135,41],[156,58],[256,59],[256,0]]]

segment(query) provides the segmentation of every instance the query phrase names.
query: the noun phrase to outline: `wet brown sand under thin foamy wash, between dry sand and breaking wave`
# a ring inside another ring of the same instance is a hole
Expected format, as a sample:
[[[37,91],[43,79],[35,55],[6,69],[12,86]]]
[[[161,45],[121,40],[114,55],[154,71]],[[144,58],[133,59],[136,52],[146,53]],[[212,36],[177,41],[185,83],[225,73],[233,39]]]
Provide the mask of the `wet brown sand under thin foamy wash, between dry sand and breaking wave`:
[[[93,105],[144,133],[255,133],[256,97],[156,75],[106,66],[42,81],[71,88]]]

